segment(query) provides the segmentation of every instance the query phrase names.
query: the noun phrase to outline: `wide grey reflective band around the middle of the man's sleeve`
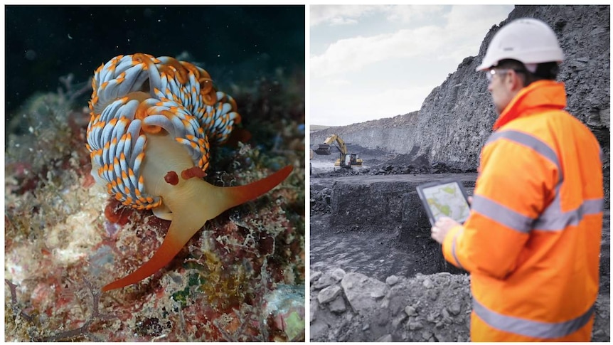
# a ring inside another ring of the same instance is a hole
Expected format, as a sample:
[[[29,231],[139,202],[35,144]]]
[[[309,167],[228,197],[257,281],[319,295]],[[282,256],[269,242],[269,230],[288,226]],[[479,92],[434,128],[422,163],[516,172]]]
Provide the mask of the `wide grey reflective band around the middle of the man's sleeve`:
[[[471,208],[481,215],[521,233],[530,232],[534,222],[533,218],[523,216],[523,214],[511,210],[511,208],[480,195],[473,196]]]

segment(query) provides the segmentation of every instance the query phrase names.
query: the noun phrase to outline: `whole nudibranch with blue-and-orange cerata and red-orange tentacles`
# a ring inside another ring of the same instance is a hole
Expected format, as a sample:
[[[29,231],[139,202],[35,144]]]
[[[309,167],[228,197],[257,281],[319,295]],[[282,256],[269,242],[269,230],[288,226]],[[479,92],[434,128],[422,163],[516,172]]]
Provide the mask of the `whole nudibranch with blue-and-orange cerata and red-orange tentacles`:
[[[236,103],[191,63],[144,53],[119,55],[92,79],[87,149],[92,175],[125,206],[151,209],[171,225],[156,253],[102,291],[139,282],[166,266],[209,219],[281,183],[285,166],[245,186],[202,179],[210,144],[223,144],[240,123]]]

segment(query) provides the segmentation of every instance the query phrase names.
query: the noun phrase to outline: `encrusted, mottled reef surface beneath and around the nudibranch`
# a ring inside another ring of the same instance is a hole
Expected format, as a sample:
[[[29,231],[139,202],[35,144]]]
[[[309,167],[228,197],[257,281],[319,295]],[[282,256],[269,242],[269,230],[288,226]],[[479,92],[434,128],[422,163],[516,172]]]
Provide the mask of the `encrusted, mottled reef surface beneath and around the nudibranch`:
[[[7,130],[5,341],[304,341],[304,75],[233,85],[247,144],[217,147],[206,180],[247,184],[294,172],[206,223],[137,285],[132,272],[169,221],[95,185],[80,90],[34,95]]]

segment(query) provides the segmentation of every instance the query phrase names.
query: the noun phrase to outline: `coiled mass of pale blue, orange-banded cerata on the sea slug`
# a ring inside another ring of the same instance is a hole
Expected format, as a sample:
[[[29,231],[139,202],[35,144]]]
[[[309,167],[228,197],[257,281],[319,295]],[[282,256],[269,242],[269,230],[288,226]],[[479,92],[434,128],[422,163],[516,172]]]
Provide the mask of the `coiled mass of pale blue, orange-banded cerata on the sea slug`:
[[[166,130],[206,171],[209,144],[225,142],[240,122],[235,101],[215,90],[206,70],[168,56],[116,56],[97,68],[92,88],[87,149],[93,175],[137,209],[160,204],[159,196],[146,193],[140,174],[144,133]]]

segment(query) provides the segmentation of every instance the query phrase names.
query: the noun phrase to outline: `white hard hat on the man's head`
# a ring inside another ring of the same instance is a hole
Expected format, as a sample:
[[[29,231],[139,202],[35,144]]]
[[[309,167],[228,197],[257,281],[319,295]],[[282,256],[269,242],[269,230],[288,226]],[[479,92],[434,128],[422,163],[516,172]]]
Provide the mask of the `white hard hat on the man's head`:
[[[486,70],[505,59],[518,60],[524,65],[562,62],[564,53],[558,38],[546,23],[534,18],[520,18],[503,26],[494,35],[476,70]]]

